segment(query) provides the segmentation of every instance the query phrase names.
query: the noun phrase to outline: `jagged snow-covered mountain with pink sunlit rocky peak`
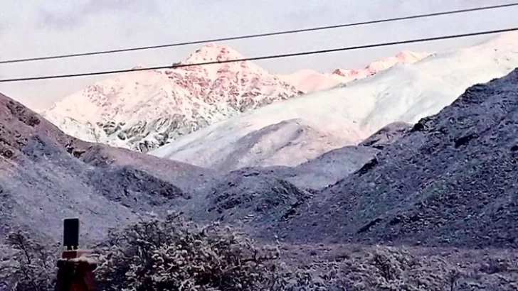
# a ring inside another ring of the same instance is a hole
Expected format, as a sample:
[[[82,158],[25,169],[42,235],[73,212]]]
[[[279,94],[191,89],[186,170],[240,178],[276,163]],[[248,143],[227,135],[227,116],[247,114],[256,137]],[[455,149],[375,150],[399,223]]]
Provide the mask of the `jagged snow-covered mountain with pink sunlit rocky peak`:
[[[184,64],[244,58],[210,44]],[[41,112],[86,141],[147,152],[218,121],[302,94],[253,62],[131,72],[105,79]]]

